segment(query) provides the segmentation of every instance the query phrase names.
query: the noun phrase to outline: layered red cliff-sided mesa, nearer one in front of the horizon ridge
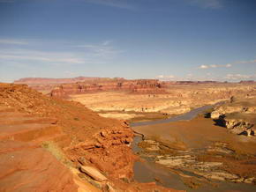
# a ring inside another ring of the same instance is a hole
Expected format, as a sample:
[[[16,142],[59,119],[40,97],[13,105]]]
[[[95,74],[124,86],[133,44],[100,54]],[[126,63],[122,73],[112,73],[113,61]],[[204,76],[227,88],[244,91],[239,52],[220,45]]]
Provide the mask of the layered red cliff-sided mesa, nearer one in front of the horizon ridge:
[[[155,79],[113,79],[102,82],[86,81],[76,84],[59,85],[54,90],[52,90],[52,92],[50,92],[50,95],[52,97],[64,97],[71,94],[101,91],[125,91],[142,94],[165,93],[164,84]]]

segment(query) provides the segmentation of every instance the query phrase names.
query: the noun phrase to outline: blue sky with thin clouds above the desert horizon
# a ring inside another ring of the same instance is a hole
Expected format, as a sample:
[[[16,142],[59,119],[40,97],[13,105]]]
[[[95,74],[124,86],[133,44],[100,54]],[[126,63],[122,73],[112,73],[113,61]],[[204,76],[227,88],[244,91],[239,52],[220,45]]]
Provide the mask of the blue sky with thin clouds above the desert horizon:
[[[0,0],[0,82],[256,80],[255,0]]]

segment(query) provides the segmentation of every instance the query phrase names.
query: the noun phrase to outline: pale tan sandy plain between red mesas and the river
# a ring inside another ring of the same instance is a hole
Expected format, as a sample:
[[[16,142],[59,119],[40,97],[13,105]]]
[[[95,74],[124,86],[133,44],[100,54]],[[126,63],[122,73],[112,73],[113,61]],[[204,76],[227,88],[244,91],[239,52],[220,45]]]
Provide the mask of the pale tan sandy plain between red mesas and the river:
[[[165,93],[94,92],[71,94],[69,100],[79,101],[105,117],[131,122],[168,118],[193,108],[228,100],[233,95],[255,95],[254,85],[195,84],[165,85]]]

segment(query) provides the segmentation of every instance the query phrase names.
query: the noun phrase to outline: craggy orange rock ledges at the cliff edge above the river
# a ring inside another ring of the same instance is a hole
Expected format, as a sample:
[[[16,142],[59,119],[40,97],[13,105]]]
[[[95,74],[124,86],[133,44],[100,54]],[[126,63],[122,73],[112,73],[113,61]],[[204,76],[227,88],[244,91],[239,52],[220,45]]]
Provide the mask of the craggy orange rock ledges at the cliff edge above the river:
[[[136,159],[130,148],[132,137],[128,127],[102,129],[94,135],[93,141],[86,140],[64,151],[78,166],[92,164],[112,179],[131,179]]]

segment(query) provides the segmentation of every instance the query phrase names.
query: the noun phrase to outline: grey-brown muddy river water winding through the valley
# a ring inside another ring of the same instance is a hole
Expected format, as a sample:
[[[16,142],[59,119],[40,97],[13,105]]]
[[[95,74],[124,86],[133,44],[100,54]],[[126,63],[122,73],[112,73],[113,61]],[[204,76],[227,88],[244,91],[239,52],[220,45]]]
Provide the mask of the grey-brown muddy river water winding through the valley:
[[[193,109],[191,112],[186,114],[181,114],[173,118],[169,118],[166,120],[154,121],[154,122],[135,122],[131,123],[132,127],[135,126],[143,126],[143,125],[153,125],[163,122],[177,122],[177,121],[184,121],[184,120],[191,120],[196,115],[202,113],[203,111],[209,109],[212,106],[204,106]],[[141,136],[134,137],[132,143],[132,151],[138,153],[142,151],[139,148],[138,144],[142,140]],[[232,183],[232,182],[224,182],[224,181],[216,181],[218,187],[213,185],[204,185],[200,188],[188,188],[184,185],[184,182],[181,180],[180,176],[177,174],[173,174],[167,168],[155,164],[150,159],[145,159],[145,162],[135,162],[133,166],[134,171],[134,179],[139,182],[156,182],[158,185],[162,185],[166,188],[175,188],[179,190],[186,190],[186,191],[197,191],[197,192],[214,192],[214,191],[245,191],[245,192],[255,192],[256,187],[251,184],[245,183]]]

